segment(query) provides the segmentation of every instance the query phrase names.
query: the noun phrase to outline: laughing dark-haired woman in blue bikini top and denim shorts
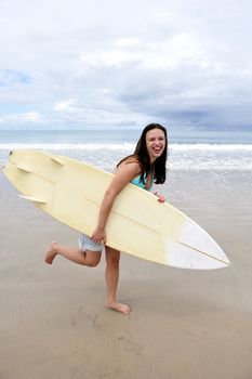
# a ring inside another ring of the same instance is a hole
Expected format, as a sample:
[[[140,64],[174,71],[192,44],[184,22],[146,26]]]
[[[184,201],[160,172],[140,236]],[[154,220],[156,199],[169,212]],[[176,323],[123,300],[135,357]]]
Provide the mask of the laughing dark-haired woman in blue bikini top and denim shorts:
[[[103,246],[106,252],[105,279],[107,287],[106,305],[123,314],[130,313],[130,306],[117,301],[116,292],[119,279],[120,251],[106,246],[106,222],[117,195],[133,183],[150,191],[152,183],[162,184],[165,181],[167,161],[167,130],[159,123],[148,125],[142,132],[134,154],[122,159],[118,166],[101,205],[97,226],[92,237],[81,235],[79,249],[62,246],[55,241],[51,244],[45,262],[53,263],[54,258],[61,254],[70,261],[94,267],[100,263]],[[163,196],[156,193],[160,202]]]

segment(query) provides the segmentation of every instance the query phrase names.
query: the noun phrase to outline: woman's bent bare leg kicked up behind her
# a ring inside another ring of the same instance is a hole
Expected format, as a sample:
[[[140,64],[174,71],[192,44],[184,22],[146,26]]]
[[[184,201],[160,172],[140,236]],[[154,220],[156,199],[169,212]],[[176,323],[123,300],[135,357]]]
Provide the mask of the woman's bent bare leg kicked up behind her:
[[[52,264],[57,254],[65,257],[71,262],[94,267],[101,260],[102,251],[83,251],[78,248],[70,248],[53,241],[47,252],[45,262]]]

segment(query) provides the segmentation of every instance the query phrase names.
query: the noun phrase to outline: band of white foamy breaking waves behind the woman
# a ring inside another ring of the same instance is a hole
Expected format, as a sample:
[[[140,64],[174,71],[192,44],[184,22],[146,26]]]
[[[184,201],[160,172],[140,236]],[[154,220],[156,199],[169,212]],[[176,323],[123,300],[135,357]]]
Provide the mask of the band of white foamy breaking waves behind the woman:
[[[8,160],[10,151],[35,148],[52,151],[112,170],[116,162],[131,154],[133,143],[0,143],[0,164]],[[252,171],[252,144],[171,144],[170,170]]]

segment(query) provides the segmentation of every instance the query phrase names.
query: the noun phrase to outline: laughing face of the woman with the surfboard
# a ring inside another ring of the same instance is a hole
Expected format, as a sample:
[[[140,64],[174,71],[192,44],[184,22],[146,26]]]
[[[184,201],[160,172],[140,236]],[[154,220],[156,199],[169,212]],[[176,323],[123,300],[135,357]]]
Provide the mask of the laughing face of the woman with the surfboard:
[[[155,128],[146,133],[146,147],[151,164],[162,155],[165,144],[165,134],[161,129]]]

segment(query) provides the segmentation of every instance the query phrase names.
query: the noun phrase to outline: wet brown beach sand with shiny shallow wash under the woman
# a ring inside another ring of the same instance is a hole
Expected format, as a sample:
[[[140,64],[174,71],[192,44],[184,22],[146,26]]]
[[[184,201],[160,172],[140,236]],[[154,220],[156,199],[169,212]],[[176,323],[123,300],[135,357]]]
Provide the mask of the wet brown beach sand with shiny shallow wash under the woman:
[[[0,173],[0,378],[251,379],[251,182],[211,173],[203,184],[205,175],[171,172],[164,193],[231,267],[184,271],[122,254],[124,316],[104,305],[104,258],[95,269],[43,262],[52,239],[75,245],[78,234],[17,198]]]

